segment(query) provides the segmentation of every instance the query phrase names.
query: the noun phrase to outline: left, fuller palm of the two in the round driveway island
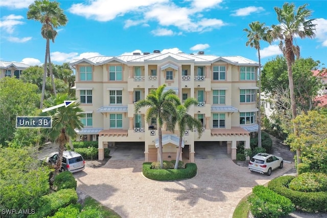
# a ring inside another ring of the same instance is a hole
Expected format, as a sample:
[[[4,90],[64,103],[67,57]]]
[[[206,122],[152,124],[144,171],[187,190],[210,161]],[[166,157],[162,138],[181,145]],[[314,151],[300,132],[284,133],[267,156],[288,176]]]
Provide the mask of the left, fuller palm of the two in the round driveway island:
[[[152,117],[157,118],[158,139],[159,139],[159,161],[160,167],[164,168],[162,159],[162,125],[167,120],[171,120],[171,115],[175,114],[175,104],[179,101],[174,90],[169,89],[164,92],[166,84],[159,86],[157,89],[151,90],[146,99],[139,100],[134,105],[134,113],[142,107],[149,107],[146,112],[146,121],[149,123]],[[171,122],[168,123],[168,129],[171,128]]]

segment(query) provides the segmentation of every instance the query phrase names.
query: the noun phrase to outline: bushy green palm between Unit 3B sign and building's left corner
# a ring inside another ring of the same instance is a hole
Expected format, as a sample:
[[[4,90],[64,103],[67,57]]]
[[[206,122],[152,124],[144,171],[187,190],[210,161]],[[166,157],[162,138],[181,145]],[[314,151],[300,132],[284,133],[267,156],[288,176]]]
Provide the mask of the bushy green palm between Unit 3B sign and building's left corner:
[[[57,96],[52,95],[51,98],[44,102],[44,105],[46,107],[52,107],[62,104],[64,101],[71,101],[69,95],[58,93]],[[61,169],[61,160],[65,150],[65,144],[69,141],[69,138],[76,137],[76,129],[81,130],[83,128],[83,124],[80,120],[81,112],[83,112],[83,110],[80,108],[79,103],[74,104],[74,106],[60,107],[46,112],[46,115],[52,117],[52,128],[45,129],[45,135],[48,136],[51,141],[59,144],[59,154],[54,177],[58,174],[59,169]]]

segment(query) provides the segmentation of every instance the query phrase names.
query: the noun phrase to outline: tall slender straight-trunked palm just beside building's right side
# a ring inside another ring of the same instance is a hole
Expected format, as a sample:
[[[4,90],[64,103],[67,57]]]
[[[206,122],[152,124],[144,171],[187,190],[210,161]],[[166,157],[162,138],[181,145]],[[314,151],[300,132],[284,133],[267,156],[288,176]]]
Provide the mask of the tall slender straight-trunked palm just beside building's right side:
[[[258,147],[261,148],[261,57],[260,57],[260,41],[266,39],[268,27],[265,27],[265,23],[259,21],[249,23],[250,30],[244,29],[247,33],[246,46],[254,47],[258,51],[259,58],[259,101],[258,101]]]

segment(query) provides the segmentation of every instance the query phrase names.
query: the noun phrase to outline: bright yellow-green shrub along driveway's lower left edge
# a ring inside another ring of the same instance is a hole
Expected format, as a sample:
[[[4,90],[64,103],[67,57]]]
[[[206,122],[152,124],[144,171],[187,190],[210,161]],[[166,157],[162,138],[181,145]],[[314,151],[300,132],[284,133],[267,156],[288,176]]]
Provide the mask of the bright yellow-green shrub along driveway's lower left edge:
[[[69,204],[76,204],[77,193],[73,188],[61,189],[50,193],[49,195],[41,196],[39,208],[35,214],[31,214],[29,218],[39,218],[53,215],[59,208],[66,207]]]

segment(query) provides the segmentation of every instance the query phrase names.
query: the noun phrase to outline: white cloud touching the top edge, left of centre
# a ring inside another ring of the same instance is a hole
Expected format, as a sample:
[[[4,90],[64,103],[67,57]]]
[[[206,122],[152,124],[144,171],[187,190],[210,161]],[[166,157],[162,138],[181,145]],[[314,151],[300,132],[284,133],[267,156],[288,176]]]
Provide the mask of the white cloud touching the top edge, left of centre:
[[[116,1],[114,5],[111,1],[94,0],[73,4],[68,11],[98,21],[109,21],[114,19],[116,16],[122,16],[127,12],[138,11],[144,9],[144,7],[164,2],[168,2],[168,0]]]

